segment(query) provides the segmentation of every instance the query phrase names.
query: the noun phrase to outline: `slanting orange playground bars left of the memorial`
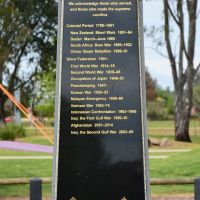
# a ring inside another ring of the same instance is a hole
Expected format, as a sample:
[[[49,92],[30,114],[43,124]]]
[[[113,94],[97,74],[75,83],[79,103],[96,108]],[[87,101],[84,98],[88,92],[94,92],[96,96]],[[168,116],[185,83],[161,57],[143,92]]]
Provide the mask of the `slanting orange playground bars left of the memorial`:
[[[0,90],[13,102],[13,104],[31,121],[31,123],[39,130],[39,132],[53,144],[53,138],[51,133],[48,133],[47,130],[44,130],[45,125],[35,117],[32,112],[23,106],[16,98],[2,85],[0,84]]]

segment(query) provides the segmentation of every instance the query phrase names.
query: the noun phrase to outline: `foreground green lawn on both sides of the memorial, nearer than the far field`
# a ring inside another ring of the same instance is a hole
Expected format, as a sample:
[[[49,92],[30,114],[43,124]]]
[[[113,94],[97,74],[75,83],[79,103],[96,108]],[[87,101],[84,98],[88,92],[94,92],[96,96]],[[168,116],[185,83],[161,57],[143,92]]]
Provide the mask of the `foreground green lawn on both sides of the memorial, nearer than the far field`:
[[[190,148],[191,149],[191,148]],[[30,155],[28,152],[0,151],[0,156],[8,153],[11,155]],[[38,153],[34,153],[38,155]],[[40,154],[40,155],[44,155]],[[46,155],[46,154],[45,154]],[[187,178],[198,177],[200,159],[200,147],[195,147],[187,153],[150,153],[150,155],[169,155],[167,159],[150,159],[151,178]],[[51,177],[51,160],[1,160],[0,178],[20,178],[20,177]],[[44,194],[51,194],[50,185],[44,185]],[[0,197],[2,196],[27,196],[28,186],[0,186]],[[192,185],[183,186],[151,186],[153,194],[167,193],[192,193]]]

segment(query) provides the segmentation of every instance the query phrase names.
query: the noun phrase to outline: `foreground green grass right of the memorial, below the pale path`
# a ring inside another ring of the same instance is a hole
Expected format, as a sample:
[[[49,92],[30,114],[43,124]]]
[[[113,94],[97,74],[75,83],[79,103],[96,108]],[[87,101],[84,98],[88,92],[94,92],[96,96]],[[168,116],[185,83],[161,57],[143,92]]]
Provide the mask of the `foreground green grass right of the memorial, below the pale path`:
[[[151,155],[151,154],[150,154]],[[158,154],[157,154],[158,155]],[[159,154],[160,155],[160,154]],[[187,153],[163,153],[167,159],[150,159],[151,178],[190,178],[200,175],[200,148]],[[151,186],[153,194],[193,193],[193,185]]]

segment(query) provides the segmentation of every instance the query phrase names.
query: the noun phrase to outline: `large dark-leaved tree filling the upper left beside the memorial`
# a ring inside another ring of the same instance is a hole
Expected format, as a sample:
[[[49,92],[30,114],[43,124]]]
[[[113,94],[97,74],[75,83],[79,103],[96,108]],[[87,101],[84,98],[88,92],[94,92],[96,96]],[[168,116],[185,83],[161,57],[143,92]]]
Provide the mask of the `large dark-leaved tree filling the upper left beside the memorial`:
[[[13,93],[55,67],[57,3],[0,0],[0,16],[0,83]],[[0,99],[4,114],[7,98],[1,93]]]

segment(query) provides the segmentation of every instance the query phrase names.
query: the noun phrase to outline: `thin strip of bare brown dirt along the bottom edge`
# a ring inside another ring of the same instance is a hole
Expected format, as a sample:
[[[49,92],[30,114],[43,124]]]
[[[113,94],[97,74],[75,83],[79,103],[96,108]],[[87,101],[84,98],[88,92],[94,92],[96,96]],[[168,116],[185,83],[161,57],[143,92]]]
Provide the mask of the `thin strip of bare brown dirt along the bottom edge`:
[[[1,198],[0,197],[0,200],[29,200],[29,198]],[[45,198],[43,200],[50,200],[50,198]],[[167,196],[153,195],[152,200],[194,200],[194,196],[191,194],[167,195]]]

